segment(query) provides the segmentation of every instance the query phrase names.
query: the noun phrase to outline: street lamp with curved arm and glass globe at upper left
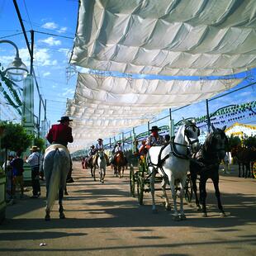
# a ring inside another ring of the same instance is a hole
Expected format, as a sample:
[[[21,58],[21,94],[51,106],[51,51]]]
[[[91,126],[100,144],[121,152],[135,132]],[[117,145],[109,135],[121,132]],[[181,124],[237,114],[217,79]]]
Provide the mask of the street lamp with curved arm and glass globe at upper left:
[[[16,56],[14,60],[8,64],[7,69],[5,69],[2,74],[7,74],[8,78],[10,78],[14,82],[20,82],[24,78],[26,78],[26,75],[28,74],[28,70],[26,68],[26,65],[21,61],[21,58],[19,56],[19,50],[17,48],[17,45],[15,45],[11,40],[0,40],[0,44],[7,43],[12,46],[14,46],[16,50]]]

